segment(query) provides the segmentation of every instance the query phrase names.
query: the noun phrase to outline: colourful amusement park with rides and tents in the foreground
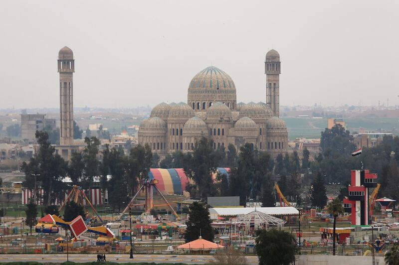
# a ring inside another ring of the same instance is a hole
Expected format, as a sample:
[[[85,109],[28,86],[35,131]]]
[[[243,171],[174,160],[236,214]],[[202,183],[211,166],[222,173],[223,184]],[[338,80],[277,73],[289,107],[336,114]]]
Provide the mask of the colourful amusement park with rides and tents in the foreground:
[[[229,170],[217,168],[217,173],[228,177]],[[217,173],[213,177],[215,182]],[[254,255],[255,231],[259,229],[290,233],[301,255],[334,252],[341,256],[378,258],[389,245],[398,243],[395,200],[377,198],[381,184],[377,174],[369,170],[351,171],[348,196],[342,205],[344,211],[335,218],[327,207],[318,210],[297,207],[297,202],[284,196],[277,182],[274,185],[276,207],[262,207],[253,201],[240,206],[238,197],[208,197],[213,242],[201,237],[185,241],[189,208],[193,203],[201,203],[188,197],[189,183],[181,168],[150,169],[149,177],[141,181],[120,213],[107,213],[106,192],[96,187],[87,192],[71,186],[59,200],[60,215],[43,215],[37,220],[33,234],[29,235],[23,218],[3,217],[0,252],[209,255],[232,246],[245,255]],[[35,193],[23,189],[21,183],[14,186],[21,189],[22,203],[37,200],[40,204],[41,190]],[[63,220],[62,212],[69,202],[83,207],[86,214],[71,221]]]

